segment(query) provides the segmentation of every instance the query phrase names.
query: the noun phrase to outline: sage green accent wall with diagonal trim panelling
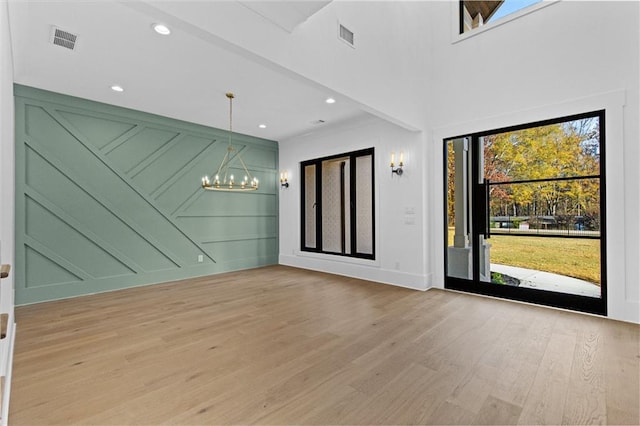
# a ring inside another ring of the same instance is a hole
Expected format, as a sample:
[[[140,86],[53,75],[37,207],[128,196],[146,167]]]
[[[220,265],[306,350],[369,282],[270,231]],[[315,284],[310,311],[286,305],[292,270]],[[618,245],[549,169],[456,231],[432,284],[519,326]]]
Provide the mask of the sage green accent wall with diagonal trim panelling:
[[[234,133],[260,189],[204,191],[226,130],[20,85],[15,102],[17,304],[277,263],[277,142]]]

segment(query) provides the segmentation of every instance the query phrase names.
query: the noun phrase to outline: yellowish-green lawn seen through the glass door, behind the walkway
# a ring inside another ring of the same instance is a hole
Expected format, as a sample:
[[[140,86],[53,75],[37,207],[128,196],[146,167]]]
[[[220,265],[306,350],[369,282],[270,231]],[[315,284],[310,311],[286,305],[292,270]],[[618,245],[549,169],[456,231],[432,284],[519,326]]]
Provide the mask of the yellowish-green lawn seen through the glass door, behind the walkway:
[[[449,243],[452,244],[453,230]],[[600,284],[600,240],[492,235],[491,263],[535,269]]]

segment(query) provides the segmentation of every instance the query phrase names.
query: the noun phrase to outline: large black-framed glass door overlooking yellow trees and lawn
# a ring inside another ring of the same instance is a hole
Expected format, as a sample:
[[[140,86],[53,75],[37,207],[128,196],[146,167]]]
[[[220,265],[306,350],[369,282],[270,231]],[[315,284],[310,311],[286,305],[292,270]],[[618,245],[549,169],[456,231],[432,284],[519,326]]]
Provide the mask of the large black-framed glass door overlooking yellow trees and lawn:
[[[604,112],[445,141],[446,287],[606,314]]]

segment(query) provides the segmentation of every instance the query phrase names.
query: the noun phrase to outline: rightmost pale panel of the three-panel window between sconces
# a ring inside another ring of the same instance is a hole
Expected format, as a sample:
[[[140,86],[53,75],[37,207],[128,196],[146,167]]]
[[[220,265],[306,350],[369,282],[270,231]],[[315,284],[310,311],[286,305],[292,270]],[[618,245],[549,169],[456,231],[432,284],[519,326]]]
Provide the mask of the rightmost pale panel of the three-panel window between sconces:
[[[356,251],[373,254],[373,160],[356,157]]]

